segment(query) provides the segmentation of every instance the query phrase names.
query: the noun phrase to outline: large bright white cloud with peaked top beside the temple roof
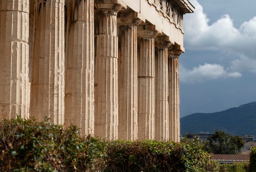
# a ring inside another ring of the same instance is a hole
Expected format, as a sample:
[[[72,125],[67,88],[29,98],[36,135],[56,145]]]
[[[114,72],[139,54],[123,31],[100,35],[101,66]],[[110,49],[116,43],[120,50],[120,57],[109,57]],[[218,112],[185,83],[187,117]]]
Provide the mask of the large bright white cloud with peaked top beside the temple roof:
[[[191,50],[219,50],[256,58],[256,17],[234,27],[229,15],[209,25],[207,14],[197,0],[191,0],[195,12],[184,15],[184,42]],[[254,56],[253,56],[254,55]]]

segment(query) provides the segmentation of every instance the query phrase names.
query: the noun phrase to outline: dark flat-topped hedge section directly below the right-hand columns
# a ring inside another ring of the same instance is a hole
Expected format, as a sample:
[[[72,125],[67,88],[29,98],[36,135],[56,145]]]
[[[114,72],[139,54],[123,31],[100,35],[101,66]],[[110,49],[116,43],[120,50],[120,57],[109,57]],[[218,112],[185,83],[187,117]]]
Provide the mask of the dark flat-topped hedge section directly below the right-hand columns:
[[[124,141],[108,143],[105,171],[173,171],[180,169],[180,148],[170,141]]]

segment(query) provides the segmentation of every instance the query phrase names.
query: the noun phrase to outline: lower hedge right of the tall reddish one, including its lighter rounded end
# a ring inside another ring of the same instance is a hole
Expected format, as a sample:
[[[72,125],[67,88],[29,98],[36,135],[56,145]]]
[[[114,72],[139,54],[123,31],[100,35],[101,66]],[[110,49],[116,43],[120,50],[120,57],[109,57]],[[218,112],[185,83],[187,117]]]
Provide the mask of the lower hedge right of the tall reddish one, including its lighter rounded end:
[[[109,142],[108,171],[207,172],[218,169],[218,163],[202,150],[198,139],[184,139],[177,144],[170,140]]]

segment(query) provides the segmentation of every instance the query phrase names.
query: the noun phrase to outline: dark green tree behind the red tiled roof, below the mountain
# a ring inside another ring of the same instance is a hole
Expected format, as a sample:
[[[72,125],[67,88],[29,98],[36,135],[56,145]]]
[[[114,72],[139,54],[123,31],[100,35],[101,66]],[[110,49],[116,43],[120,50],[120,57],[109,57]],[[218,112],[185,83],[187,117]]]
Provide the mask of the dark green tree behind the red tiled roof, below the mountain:
[[[224,131],[216,130],[207,138],[203,150],[214,154],[239,154],[244,145],[243,137],[227,135]]]

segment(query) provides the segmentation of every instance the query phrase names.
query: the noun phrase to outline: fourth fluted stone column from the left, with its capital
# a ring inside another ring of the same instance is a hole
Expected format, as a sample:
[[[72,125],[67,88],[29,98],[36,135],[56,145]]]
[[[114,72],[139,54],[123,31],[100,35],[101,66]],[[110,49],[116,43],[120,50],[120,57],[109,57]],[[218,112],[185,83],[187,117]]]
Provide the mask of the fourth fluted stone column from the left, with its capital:
[[[115,0],[114,0],[115,1]],[[96,136],[118,136],[118,3],[95,0],[95,125]]]

